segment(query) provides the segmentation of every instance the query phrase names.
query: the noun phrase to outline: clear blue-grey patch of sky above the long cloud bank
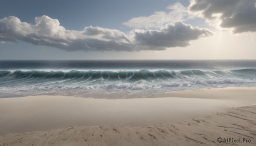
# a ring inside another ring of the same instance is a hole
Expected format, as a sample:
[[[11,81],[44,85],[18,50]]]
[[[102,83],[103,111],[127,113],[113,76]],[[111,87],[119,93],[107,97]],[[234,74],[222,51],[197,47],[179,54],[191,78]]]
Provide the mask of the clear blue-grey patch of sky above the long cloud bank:
[[[15,16],[23,22],[47,15],[56,18],[66,29],[82,30],[85,26],[122,29],[132,17],[163,11],[174,0],[2,0],[0,17]],[[178,0],[188,6],[189,1]]]

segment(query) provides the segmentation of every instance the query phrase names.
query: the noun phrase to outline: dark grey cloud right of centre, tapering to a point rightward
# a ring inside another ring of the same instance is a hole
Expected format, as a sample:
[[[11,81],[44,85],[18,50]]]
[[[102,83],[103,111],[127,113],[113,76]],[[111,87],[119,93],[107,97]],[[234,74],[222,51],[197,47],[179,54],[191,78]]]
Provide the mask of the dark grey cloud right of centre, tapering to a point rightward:
[[[136,31],[135,39],[145,46],[158,47],[186,47],[190,40],[196,40],[199,37],[211,36],[213,33],[208,29],[199,29],[182,22],[175,22],[174,25],[166,24],[166,27],[160,31],[147,30]]]

